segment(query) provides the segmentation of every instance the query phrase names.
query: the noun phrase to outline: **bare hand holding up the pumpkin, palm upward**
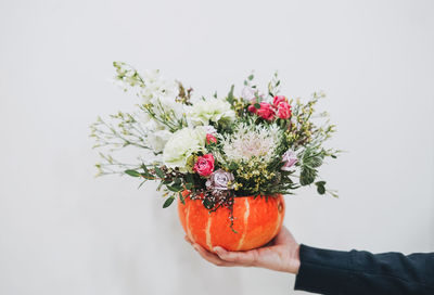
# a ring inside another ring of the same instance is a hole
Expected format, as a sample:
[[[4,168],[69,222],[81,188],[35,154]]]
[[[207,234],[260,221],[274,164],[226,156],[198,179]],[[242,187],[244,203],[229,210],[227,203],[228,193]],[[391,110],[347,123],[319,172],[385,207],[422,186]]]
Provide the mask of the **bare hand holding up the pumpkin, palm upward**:
[[[216,266],[260,267],[294,274],[298,273],[299,244],[284,226],[270,243],[260,248],[245,252],[229,252],[216,246],[213,248],[215,253],[210,253],[201,245],[193,243],[187,235],[186,240],[205,260]]]

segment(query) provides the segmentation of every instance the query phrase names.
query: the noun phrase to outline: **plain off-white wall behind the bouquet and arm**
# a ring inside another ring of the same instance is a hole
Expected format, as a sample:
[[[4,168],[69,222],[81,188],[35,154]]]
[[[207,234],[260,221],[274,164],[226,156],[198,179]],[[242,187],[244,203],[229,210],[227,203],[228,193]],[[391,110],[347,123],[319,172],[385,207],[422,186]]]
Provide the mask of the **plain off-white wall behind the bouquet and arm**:
[[[196,93],[277,69],[324,90],[347,151],[340,198],[288,196],[285,225],[335,249],[434,251],[433,1],[0,2],[0,294],[302,294],[294,277],[226,269],[183,241],[176,207],[136,179],[93,178],[89,124],[129,111],[112,61]]]

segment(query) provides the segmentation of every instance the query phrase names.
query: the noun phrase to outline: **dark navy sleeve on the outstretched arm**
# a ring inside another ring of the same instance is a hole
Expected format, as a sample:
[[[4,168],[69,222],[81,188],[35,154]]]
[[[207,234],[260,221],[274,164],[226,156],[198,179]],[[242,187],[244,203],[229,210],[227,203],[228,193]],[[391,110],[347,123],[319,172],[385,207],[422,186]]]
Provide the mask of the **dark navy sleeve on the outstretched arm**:
[[[433,295],[434,253],[371,254],[301,245],[295,290],[320,294]]]

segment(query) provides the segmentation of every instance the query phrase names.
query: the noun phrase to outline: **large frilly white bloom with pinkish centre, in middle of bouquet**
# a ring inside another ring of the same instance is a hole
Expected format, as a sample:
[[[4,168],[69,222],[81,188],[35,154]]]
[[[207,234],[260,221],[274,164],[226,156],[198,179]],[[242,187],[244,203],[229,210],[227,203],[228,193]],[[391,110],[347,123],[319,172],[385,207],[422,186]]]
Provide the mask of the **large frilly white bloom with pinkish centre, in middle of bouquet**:
[[[276,155],[283,131],[276,125],[240,124],[231,134],[220,136],[222,154],[227,162],[247,162],[252,157],[269,163]],[[220,158],[220,157],[219,157]]]

